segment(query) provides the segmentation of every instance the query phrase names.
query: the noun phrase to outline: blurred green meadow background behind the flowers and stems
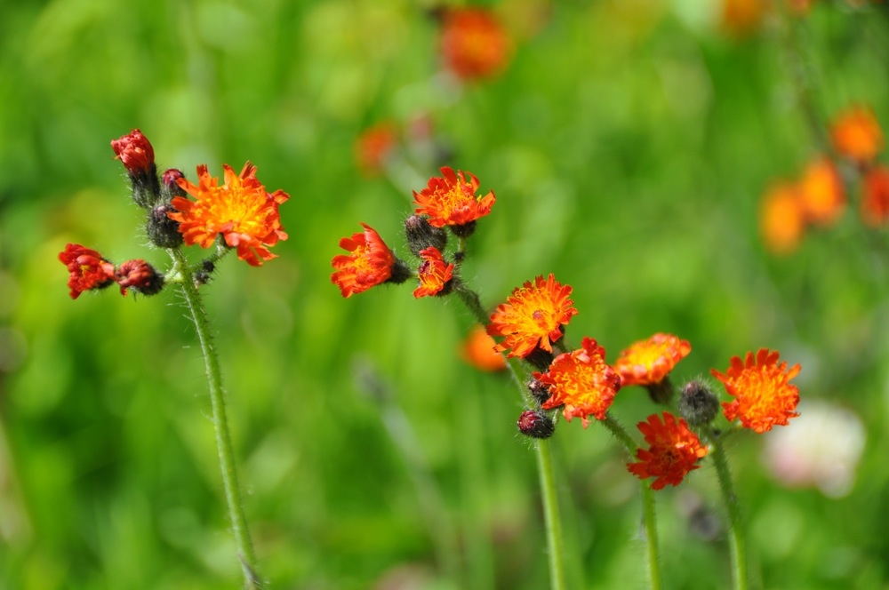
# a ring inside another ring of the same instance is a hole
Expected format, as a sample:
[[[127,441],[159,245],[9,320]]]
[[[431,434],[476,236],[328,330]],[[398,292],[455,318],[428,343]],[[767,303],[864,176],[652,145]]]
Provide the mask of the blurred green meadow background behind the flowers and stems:
[[[765,187],[819,149],[801,89],[822,124],[850,103],[889,124],[886,4],[771,13],[739,36],[715,1],[504,0],[513,60],[465,87],[441,71],[428,8],[3,4],[0,588],[240,584],[180,296],[72,301],[57,259],[76,242],[167,266],[109,147],[137,127],[162,170],[194,179],[196,164],[220,174],[249,159],[292,197],[279,258],[230,257],[204,289],[269,587],[546,587],[522,407],[509,379],[459,359],[470,315],[406,286],[341,299],[330,283],[359,221],[406,253],[410,190],[441,164],[497,195],[463,273],[486,304],[554,272],[580,310],[569,337],[598,339],[611,360],[673,332],[693,345],[681,382],[777,348],[803,364],[800,424],[813,400],[859,416],[866,443],[842,490],[771,475],[769,436],[729,452],[754,587],[889,587],[885,232],[853,207],[775,258],[757,226]],[[416,157],[394,181],[362,175],[356,137],[417,116],[446,159]],[[613,411],[633,425],[653,406],[628,389]],[[847,442],[826,424],[811,444]],[[569,586],[643,587],[638,485],[618,445],[577,421],[553,443]],[[712,466],[657,498],[667,586],[728,586]]]

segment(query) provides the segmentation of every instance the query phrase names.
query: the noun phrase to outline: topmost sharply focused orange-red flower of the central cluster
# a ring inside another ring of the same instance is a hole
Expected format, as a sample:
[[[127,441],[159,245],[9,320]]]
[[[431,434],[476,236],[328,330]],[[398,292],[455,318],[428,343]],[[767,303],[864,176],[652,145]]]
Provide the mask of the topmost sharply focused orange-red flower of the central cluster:
[[[432,227],[463,226],[491,212],[494,204],[493,191],[478,197],[478,179],[475,174],[463,171],[454,173],[453,168],[441,169],[443,177],[429,179],[428,186],[419,193],[413,191],[414,211],[428,215]]]

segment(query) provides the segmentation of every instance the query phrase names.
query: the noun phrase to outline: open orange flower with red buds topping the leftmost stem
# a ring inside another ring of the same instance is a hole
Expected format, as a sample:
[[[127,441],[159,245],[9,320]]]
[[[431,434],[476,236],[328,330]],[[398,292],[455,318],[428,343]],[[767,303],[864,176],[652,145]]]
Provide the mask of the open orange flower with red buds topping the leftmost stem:
[[[252,266],[275,258],[268,248],[287,235],[278,216],[278,205],[289,197],[284,191],[269,194],[256,179],[256,167],[246,163],[240,175],[224,165],[225,178],[210,176],[205,165],[197,167],[198,185],[171,168],[158,175],[155,150],[138,129],[111,141],[116,159],[124,164],[130,179],[132,200],[145,211],[145,233],[157,248],[179,249],[185,243],[216,248],[189,275],[200,285],[210,279],[215,261],[235,250]],[[188,195],[196,200],[188,199]],[[111,283],[121,294],[133,291],[154,295],[166,283],[181,280],[181,272],[164,276],[143,259],[127,260],[115,266],[98,251],[68,243],[59,254],[68,267],[68,289],[72,299],[84,291],[100,290]]]

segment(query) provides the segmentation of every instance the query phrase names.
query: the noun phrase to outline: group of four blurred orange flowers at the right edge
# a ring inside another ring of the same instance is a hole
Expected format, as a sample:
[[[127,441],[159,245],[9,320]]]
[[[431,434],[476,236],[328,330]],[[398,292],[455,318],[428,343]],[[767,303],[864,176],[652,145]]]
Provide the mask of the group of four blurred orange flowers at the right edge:
[[[842,218],[847,185],[860,183],[859,215],[869,227],[889,222],[889,167],[878,162],[885,140],[871,108],[853,106],[829,127],[833,155],[815,156],[801,176],[779,181],[763,197],[760,226],[769,250],[789,254],[807,227],[830,227]],[[844,175],[838,164],[848,169]],[[845,176],[845,181],[844,181]]]

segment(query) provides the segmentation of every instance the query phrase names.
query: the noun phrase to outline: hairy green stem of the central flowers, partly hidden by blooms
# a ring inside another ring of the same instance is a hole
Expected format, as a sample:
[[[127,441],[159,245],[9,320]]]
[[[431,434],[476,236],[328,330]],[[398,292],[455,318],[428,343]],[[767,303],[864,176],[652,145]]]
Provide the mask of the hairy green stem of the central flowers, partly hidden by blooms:
[[[488,314],[482,307],[481,299],[476,291],[469,289],[464,283],[456,284],[455,291],[460,299],[469,307],[469,311],[476,317],[478,323],[488,323]],[[522,396],[523,403],[529,403],[529,394],[525,387],[525,379],[522,377],[522,369],[518,366],[517,359],[507,358],[509,372]],[[543,502],[543,521],[547,530],[547,557],[549,559],[549,586],[552,590],[565,588],[565,563],[563,562],[564,550],[562,546],[562,524],[558,512],[558,496],[556,491],[556,479],[553,475],[552,457],[549,454],[549,442],[538,441],[534,445],[537,454],[537,472],[541,482],[541,500]]]

